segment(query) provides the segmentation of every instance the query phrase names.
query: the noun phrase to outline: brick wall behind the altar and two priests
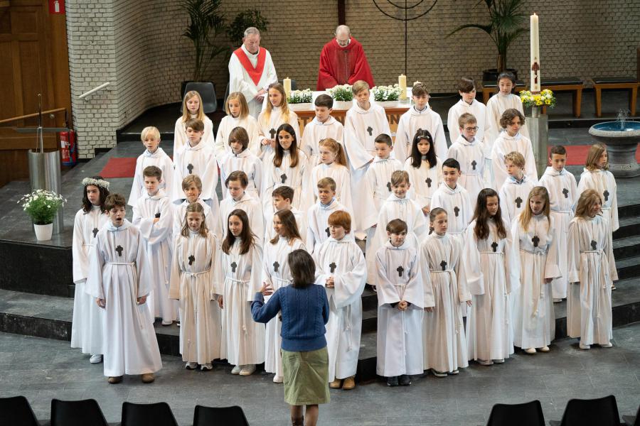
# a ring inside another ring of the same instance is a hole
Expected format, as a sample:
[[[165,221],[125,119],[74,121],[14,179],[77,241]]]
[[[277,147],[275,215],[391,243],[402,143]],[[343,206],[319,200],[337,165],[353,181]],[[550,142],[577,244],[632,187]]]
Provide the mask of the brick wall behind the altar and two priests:
[[[182,36],[188,17],[175,0],[66,3],[73,122],[80,156],[89,158],[93,148],[113,146],[115,131],[145,109],[179,102],[180,82],[193,72],[193,50]],[[331,40],[338,20],[336,3],[239,0],[224,8],[229,19],[244,9],[259,8],[270,21],[262,45],[270,50],[279,78],[291,77],[301,88],[314,88],[322,45]],[[377,3],[400,16],[388,2]],[[495,48],[485,33],[468,30],[446,37],[462,23],[486,22],[484,6],[474,8],[476,3],[439,0],[427,16],[410,21],[407,82],[421,80],[432,92],[453,92],[461,75],[480,78],[481,70],[495,67]],[[403,23],[384,16],[371,0],[346,4],[347,24],[363,43],[376,83],[396,82],[404,68]],[[639,0],[531,0],[525,10],[540,15],[543,77],[636,74]],[[528,80],[528,33],[513,43],[508,55],[508,65]],[[215,60],[209,71],[222,97],[227,63]],[[77,99],[105,81],[112,82],[107,90]]]

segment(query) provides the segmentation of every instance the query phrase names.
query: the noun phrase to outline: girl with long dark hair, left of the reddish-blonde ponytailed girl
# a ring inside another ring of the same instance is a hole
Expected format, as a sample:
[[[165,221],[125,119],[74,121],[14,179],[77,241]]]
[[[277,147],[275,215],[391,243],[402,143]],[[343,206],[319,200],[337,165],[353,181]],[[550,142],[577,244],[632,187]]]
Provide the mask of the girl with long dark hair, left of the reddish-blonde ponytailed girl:
[[[286,185],[294,190],[294,207],[304,212],[314,200],[309,158],[298,148],[298,138],[289,124],[278,127],[277,138],[275,151],[262,163],[265,170],[260,192],[263,209],[265,214],[270,209],[271,192]]]

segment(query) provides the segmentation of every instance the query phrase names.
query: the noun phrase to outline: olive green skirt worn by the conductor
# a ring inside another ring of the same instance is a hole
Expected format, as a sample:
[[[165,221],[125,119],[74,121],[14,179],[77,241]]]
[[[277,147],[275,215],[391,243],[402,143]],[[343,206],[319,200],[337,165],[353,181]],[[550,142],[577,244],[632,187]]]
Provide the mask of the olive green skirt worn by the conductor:
[[[289,405],[329,403],[329,355],[316,351],[282,351],[284,402]]]

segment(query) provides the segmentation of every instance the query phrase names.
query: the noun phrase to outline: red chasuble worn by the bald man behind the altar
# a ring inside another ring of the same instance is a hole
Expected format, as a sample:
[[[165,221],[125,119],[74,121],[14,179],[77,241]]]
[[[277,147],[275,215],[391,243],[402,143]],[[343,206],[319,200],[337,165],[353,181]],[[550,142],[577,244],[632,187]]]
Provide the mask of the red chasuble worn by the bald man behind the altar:
[[[331,89],[337,84],[353,84],[358,80],[368,82],[373,87],[373,75],[362,45],[351,37],[345,48],[334,38],[324,45],[320,54],[320,70],[317,90]]]

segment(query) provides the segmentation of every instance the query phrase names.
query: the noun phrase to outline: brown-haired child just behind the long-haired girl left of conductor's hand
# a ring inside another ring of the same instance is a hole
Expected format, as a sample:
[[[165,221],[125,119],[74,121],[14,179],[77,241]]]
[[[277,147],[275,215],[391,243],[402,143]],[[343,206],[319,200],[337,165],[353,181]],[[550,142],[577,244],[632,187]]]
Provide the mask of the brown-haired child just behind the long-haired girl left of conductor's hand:
[[[251,195],[245,192],[245,189],[249,185],[249,179],[242,170],[235,170],[231,172],[228,178],[225,180],[225,186],[229,192],[222,204],[220,204],[220,228],[225,229],[223,239],[227,237],[226,230],[228,225],[225,223],[228,220],[229,214],[235,209],[244,210],[249,217],[251,224],[251,231],[255,234],[257,241],[262,244],[262,238],[265,236],[265,221],[262,215],[262,205],[260,200],[255,199]]]

